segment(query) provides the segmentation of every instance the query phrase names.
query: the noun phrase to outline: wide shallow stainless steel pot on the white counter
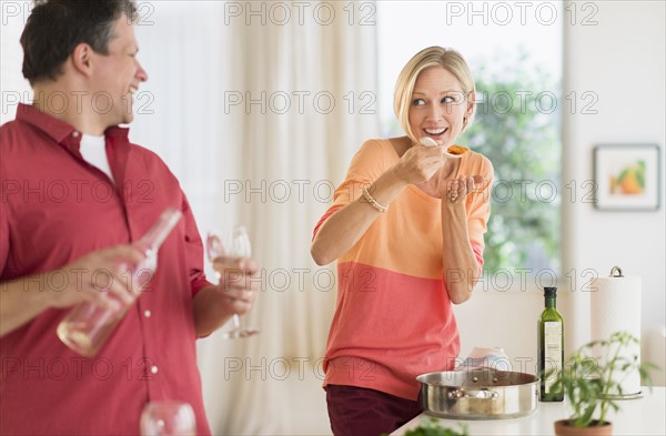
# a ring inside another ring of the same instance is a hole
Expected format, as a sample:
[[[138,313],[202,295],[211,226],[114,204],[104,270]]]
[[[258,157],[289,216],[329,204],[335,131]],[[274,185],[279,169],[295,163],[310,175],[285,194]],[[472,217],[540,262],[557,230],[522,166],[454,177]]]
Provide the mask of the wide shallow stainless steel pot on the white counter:
[[[516,418],[533,413],[538,404],[538,378],[532,374],[480,368],[416,379],[425,412],[444,418]]]

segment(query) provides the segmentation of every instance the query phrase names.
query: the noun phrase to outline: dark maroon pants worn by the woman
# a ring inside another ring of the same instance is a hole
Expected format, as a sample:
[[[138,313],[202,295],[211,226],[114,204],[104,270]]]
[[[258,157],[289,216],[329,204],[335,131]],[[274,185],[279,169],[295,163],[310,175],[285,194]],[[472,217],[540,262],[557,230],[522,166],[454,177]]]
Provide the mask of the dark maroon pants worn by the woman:
[[[420,400],[356,386],[326,386],[326,403],[335,436],[389,434],[423,412]]]

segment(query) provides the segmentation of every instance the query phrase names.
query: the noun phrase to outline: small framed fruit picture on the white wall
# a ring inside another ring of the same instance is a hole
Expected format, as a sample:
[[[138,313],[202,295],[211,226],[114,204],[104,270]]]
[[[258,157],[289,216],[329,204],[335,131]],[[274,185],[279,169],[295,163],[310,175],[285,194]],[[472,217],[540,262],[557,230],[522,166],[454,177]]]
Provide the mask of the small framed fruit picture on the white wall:
[[[656,211],[662,186],[657,144],[602,144],[594,148],[595,207],[601,211]]]

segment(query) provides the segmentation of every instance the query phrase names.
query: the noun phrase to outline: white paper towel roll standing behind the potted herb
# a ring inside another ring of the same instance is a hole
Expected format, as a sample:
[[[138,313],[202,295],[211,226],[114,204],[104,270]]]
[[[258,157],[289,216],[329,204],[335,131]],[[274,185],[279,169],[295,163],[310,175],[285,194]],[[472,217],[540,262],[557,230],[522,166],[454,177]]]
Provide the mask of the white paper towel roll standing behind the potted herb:
[[[615,270],[615,268],[614,268]],[[613,333],[628,332],[640,341],[640,277],[612,276],[593,278],[591,283],[589,331],[592,341],[608,339]],[[640,345],[630,345],[620,356],[638,356]],[[624,378],[617,377],[623,395],[640,392],[640,374],[634,371]]]

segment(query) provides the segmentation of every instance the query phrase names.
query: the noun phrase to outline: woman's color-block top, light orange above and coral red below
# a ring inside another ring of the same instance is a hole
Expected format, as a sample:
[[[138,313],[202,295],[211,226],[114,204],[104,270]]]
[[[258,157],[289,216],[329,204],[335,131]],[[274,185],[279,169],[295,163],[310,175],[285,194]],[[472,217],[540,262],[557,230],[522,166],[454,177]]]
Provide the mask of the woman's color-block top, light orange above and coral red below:
[[[389,140],[365,142],[315,234],[397,161]],[[468,151],[456,176],[463,174],[485,180],[466,204],[470,244],[481,271],[493,166]],[[415,400],[417,375],[453,368],[460,336],[443,281],[443,244],[441,200],[410,185],[337,258],[337,304],[324,359],[324,386],[366,387]]]

